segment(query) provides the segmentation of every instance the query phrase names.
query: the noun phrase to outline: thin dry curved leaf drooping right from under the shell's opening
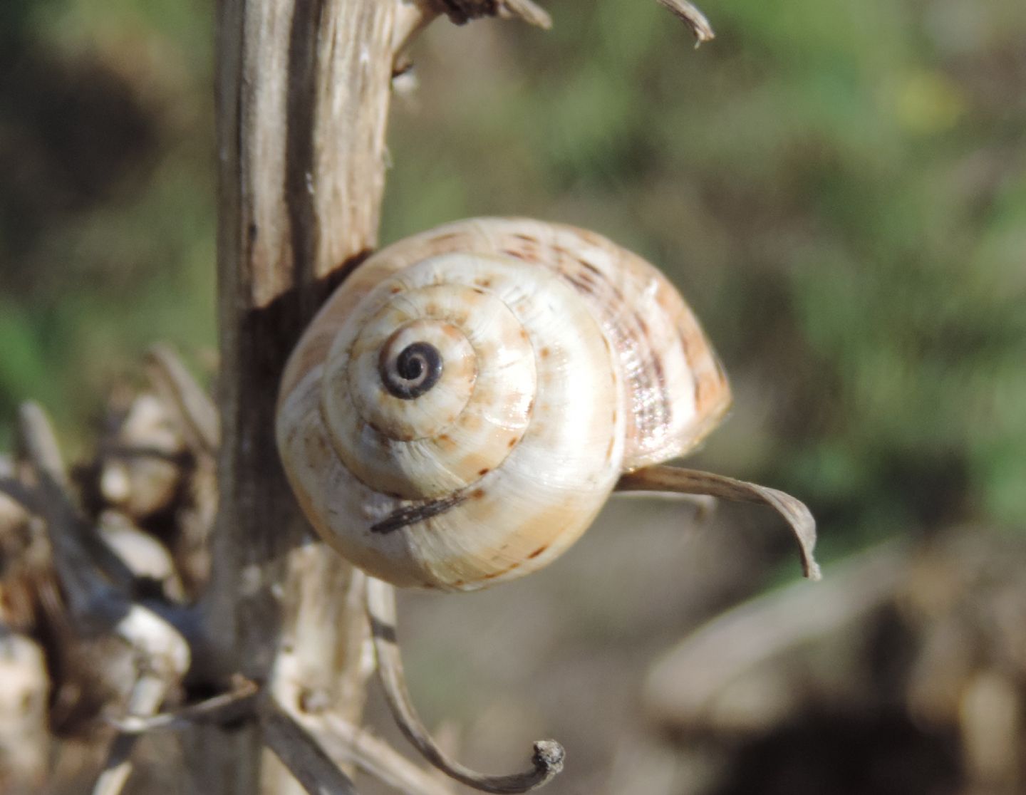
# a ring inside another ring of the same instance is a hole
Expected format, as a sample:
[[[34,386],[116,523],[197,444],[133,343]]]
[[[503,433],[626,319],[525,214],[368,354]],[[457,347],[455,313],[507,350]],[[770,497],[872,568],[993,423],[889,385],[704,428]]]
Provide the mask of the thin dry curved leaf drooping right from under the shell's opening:
[[[711,472],[698,472],[679,467],[656,466],[624,475],[617,483],[621,491],[655,493],[709,494],[722,500],[767,505],[787,519],[798,540],[801,568],[810,580],[819,580],[820,566],[813,556],[816,547],[816,520],[805,505],[776,488],[735,480]]]

